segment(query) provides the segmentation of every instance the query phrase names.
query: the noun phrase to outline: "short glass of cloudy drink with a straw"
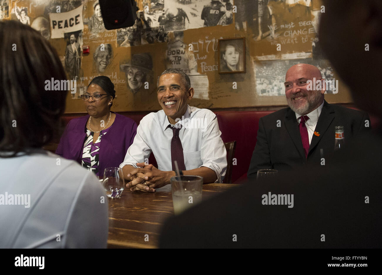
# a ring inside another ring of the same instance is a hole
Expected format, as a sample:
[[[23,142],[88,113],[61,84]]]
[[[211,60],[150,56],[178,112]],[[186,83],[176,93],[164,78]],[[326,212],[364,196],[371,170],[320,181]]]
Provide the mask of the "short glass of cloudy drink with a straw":
[[[202,201],[203,177],[175,176],[170,181],[175,215]]]

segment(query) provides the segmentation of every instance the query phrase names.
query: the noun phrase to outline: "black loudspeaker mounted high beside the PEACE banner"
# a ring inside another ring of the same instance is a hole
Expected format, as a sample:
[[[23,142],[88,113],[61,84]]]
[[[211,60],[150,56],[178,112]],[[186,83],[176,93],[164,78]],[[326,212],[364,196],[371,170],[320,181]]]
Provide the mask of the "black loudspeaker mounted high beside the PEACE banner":
[[[99,0],[99,6],[107,30],[131,27],[137,18],[134,0]]]

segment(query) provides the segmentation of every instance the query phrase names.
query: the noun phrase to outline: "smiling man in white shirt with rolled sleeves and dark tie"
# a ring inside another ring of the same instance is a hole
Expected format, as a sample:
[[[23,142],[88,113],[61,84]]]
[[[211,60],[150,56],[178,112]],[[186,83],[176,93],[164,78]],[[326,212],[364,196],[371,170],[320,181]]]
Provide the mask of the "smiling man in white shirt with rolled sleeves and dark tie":
[[[227,169],[226,150],[216,115],[190,107],[193,98],[188,75],[165,70],[158,81],[162,110],[142,118],[133,144],[120,167],[131,191],[155,192],[175,176],[174,160],[184,175],[201,176],[204,184],[221,183]],[[158,168],[144,163],[153,152]]]

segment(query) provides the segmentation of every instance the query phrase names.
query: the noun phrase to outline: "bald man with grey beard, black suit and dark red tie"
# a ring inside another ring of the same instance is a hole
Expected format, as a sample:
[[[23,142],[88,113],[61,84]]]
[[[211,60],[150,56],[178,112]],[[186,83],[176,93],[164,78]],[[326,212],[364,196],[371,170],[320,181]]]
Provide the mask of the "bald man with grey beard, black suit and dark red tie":
[[[288,69],[284,85],[289,107],[260,118],[248,177],[259,169],[330,165],[327,157],[335,147],[335,126],[344,127],[345,142],[371,129],[366,113],[327,103],[325,83],[312,90],[309,80],[314,78],[324,83],[315,66],[296,64]]]

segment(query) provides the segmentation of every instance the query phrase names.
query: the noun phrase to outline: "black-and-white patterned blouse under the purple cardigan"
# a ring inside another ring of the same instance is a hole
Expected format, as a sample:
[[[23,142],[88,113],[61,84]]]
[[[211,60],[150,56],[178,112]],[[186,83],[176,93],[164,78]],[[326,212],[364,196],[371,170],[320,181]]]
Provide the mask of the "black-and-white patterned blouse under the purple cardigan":
[[[110,126],[111,127],[111,126]],[[110,127],[108,129],[110,129]],[[106,129],[105,131],[107,131]],[[86,167],[89,171],[95,173],[96,176],[99,176],[99,150],[100,150],[100,142],[102,136],[104,136],[107,132],[101,131],[99,137],[93,143],[94,132],[86,129],[86,137],[84,141],[83,153],[82,153],[82,166]]]

